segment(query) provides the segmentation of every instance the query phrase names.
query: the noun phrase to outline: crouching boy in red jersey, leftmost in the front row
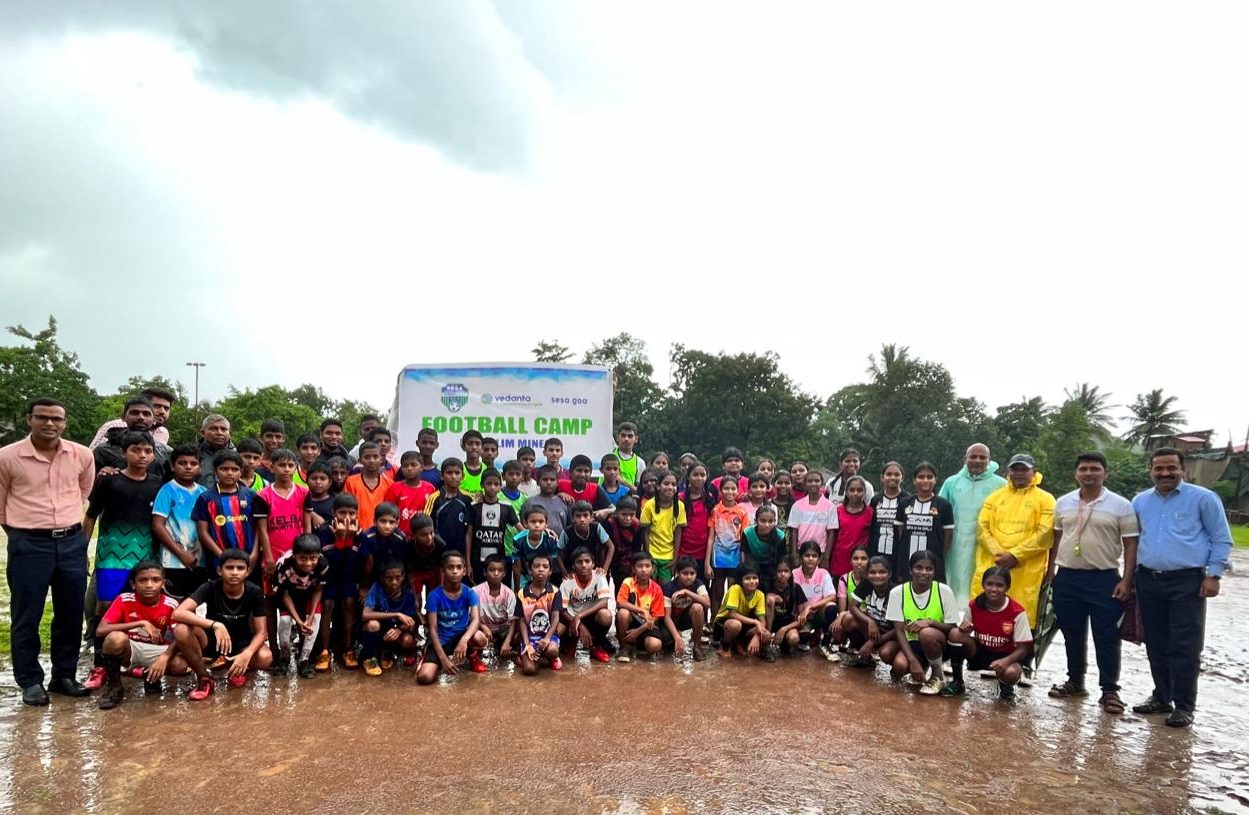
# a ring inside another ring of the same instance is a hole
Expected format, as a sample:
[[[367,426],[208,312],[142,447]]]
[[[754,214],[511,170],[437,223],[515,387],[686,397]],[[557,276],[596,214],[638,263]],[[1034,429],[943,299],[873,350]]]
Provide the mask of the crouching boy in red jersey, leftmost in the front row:
[[[104,693],[100,710],[116,708],[126,698],[121,669],[144,670],[144,690],[160,694],[165,674],[186,673],[186,660],[177,655],[170,630],[177,600],[165,594],[165,569],[156,560],[144,560],[130,573],[134,592],[122,592],[100,619],[96,635],[104,638]]]

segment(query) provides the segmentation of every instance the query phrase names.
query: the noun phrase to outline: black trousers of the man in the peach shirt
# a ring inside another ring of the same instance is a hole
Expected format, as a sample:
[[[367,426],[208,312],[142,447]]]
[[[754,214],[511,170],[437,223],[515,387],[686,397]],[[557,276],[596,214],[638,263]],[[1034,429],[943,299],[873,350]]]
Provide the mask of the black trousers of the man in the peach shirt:
[[[12,609],[12,676],[20,688],[41,685],[39,622],[47,589],[52,590],[52,679],[74,676],[82,640],[82,595],[86,593],[86,535],[77,530],[46,538],[7,529],[9,594]]]

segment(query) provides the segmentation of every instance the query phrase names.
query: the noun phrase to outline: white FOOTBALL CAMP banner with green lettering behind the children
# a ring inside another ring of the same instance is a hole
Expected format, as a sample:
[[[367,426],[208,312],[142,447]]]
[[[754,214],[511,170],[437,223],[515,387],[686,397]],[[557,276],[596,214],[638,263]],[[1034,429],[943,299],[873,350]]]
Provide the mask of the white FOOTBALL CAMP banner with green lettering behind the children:
[[[601,366],[546,362],[412,364],[398,374],[388,427],[398,451],[416,449],[423,427],[438,433],[437,461],[463,458],[466,431],[498,439],[498,464],[521,447],[537,451],[557,437],[565,467],[585,453],[595,461],[616,447],[612,432],[612,372]]]

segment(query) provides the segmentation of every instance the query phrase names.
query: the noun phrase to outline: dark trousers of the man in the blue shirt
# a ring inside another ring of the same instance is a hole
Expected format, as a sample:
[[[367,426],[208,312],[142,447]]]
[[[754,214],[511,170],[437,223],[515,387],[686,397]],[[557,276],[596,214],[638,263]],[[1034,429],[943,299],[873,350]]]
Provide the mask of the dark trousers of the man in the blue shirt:
[[[1190,713],[1197,709],[1197,675],[1205,643],[1204,579],[1204,569],[1138,568],[1135,580],[1154,698]]]

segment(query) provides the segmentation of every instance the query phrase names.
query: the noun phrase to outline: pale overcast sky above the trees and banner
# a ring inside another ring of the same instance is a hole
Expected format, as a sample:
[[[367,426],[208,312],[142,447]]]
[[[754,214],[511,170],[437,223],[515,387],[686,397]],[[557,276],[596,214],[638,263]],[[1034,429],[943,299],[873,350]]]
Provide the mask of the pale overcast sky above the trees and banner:
[[[101,391],[883,342],[1243,437],[1249,6],[0,0],[0,318]],[[7,342],[7,339],[5,339]],[[1117,411],[1120,413],[1122,411]]]

